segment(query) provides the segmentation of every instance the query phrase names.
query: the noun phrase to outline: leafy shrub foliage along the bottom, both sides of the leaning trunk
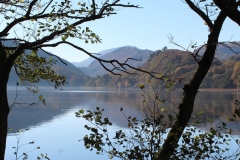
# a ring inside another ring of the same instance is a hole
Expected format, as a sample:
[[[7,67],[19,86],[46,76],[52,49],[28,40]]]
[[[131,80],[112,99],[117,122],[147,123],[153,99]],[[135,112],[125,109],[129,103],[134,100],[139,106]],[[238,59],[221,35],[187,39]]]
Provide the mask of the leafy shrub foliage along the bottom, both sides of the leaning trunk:
[[[84,127],[90,131],[82,140],[86,149],[96,150],[97,154],[107,153],[109,158],[120,159],[151,159],[165,141],[169,128],[172,127],[176,118],[175,110],[166,107],[165,98],[161,98],[162,90],[145,89],[139,84],[143,91],[142,119],[127,116],[120,108],[120,112],[127,120],[128,129],[120,129],[111,134],[112,122],[104,117],[104,109],[96,108],[95,111],[79,110],[77,117],[84,118],[90,125]],[[237,101],[236,104],[240,104]],[[201,118],[203,112],[193,115],[189,126],[181,136],[178,147],[175,149],[171,159],[238,159],[240,158],[240,140],[232,135],[233,131],[227,122],[218,120],[218,123],[209,120],[209,129],[203,128]],[[240,118],[240,109],[234,110],[234,119],[238,125],[237,118]],[[217,124],[217,125],[216,125]],[[240,130],[239,130],[240,131]],[[235,143],[238,147],[230,149]]]

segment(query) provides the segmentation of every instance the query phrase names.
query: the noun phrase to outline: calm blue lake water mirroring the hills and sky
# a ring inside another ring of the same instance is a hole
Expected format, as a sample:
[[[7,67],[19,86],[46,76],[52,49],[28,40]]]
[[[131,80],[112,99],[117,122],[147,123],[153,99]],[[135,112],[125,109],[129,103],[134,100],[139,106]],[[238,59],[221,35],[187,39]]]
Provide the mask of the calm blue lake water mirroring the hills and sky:
[[[16,97],[14,87],[8,88],[9,104]],[[47,153],[53,160],[75,159],[108,159],[107,155],[96,155],[95,151],[84,148],[82,139],[88,132],[83,127],[86,121],[75,117],[79,109],[94,110],[96,107],[105,109],[105,116],[114,123],[113,131],[119,128],[127,129],[127,121],[119,111],[124,109],[126,115],[141,118],[142,92],[137,90],[80,90],[65,88],[63,91],[41,88],[47,105],[42,104],[23,108],[14,106],[9,116],[9,127],[13,130],[30,128],[20,134],[20,144],[34,141],[21,147],[19,153],[28,152],[40,146],[41,149],[29,152],[29,159],[36,159],[41,153]],[[171,94],[168,100],[178,103],[181,95]],[[234,101],[240,100],[237,93],[199,93],[194,112],[204,111],[203,121],[207,119],[226,119],[232,115]],[[37,101],[37,96],[25,89],[18,89],[15,103],[30,103]],[[167,104],[169,105],[169,104]],[[172,107],[174,108],[174,107]],[[7,139],[6,160],[15,159],[13,146],[17,144],[16,134],[9,131]],[[20,155],[20,154],[19,154]]]

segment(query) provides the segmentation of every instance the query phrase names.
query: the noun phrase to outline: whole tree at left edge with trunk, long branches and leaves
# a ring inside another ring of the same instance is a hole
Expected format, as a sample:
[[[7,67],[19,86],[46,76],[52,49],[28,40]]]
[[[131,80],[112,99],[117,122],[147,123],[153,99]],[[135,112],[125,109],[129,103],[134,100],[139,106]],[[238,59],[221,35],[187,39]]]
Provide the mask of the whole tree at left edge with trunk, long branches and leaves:
[[[19,76],[19,85],[28,87],[36,93],[34,87],[40,80],[46,80],[55,88],[65,84],[65,77],[51,69],[56,60],[39,57],[38,50],[43,47],[57,47],[61,44],[70,45],[79,51],[97,59],[101,65],[104,62],[118,63],[119,66],[131,67],[126,62],[117,60],[106,61],[93,56],[83,48],[68,41],[68,38],[83,40],[85,43],[100,42],[97,34],[88,27],[81,25],[116,14],[120,7],[138,8],[136,5],[123,4],[120,0],[101,2],[70,0],[8,0],[0,2],[1,31],[0,31],[0,159],[4,159],[6,137],[8,131],[8,114],[10,107],[7,99],[7,83],[13,68]],[[22,32],[19,32],[22,30]],[[10,45],[9,45],[10,44]],[[44,50],[43,50],[44,51]],[[61,59],[45,52],[56,59]],[[113,71],[107,69],[114,73]],[[45,103],[42,96],[39,100]]]

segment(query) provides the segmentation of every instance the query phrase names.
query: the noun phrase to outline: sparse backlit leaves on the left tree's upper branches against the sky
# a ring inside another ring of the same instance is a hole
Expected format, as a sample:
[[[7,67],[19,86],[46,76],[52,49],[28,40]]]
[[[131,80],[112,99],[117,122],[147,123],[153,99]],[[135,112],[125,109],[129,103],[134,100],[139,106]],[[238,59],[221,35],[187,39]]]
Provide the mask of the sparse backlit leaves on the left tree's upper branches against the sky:
[[[49,14],[45,13],[47,8],[51,10]],[[70,0],[35,1],[31,4],[28,1],[16,1],[2,5],[1,13],[5,15],[7,25],[11,25],[11,20],[19,19],[20,23],[17,26],[24,31],[23,36],[18,37],[24,37],[26,41],[41,39],[53,32],[65,30],[61,34],[62,41],[71,37],[84,40],[85,43],[97,43],[100,42],[100,38],[88,27],[82,29],[72,25],[74,21],[91,16],[94,9],[98,9],[97,4],[90,7],[86,2],[78,2],[77,5],[73,5]],[[17,32],[15,34],[19,35]]]

